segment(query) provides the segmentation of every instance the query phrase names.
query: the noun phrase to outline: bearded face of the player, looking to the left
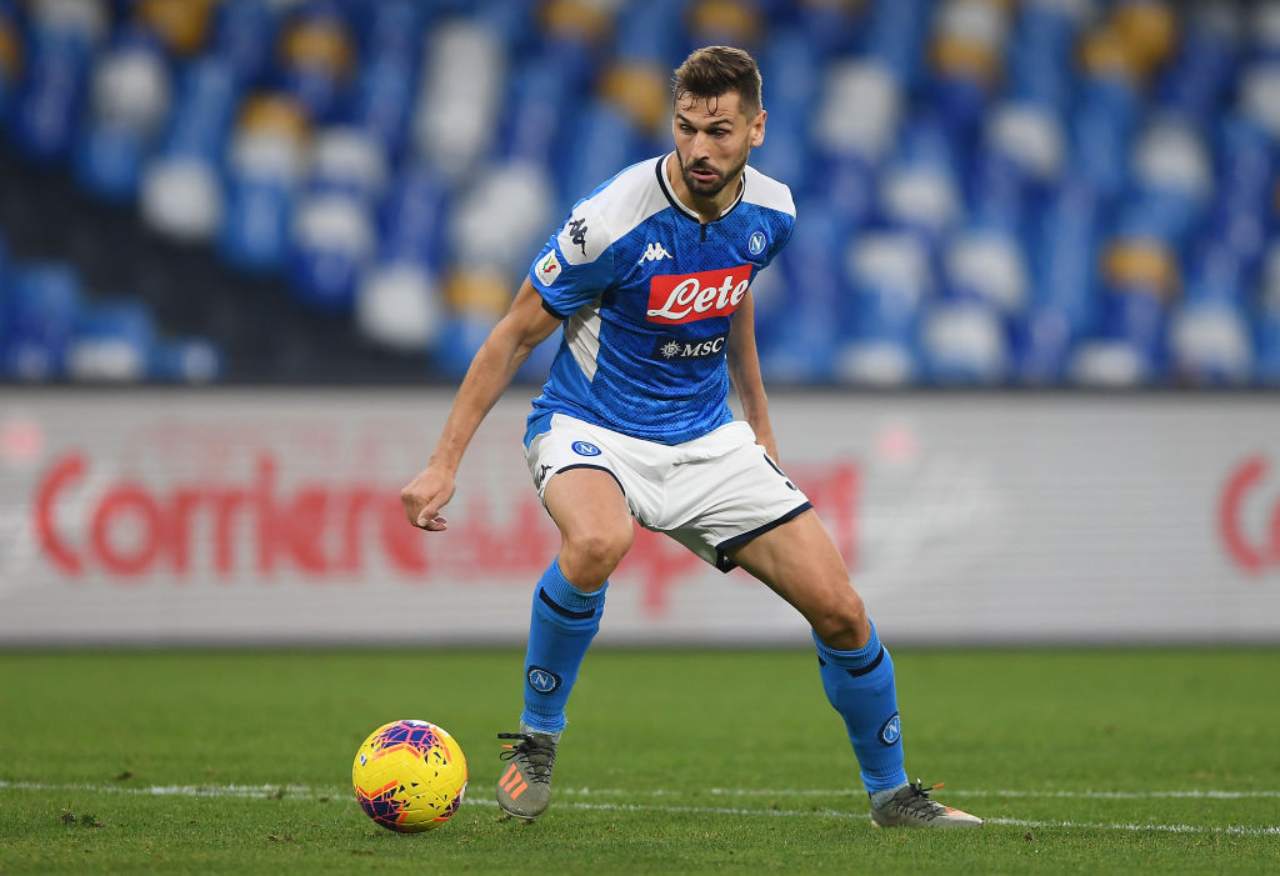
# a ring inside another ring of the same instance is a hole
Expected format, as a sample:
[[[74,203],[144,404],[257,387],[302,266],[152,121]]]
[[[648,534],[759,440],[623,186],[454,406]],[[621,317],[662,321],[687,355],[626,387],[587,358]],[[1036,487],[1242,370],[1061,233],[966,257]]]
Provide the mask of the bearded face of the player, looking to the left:
[[[684,96],[676,104],[672,133],[689,191],[716,197],[727,184],[736,184],[751,147],[764,142],[765,115],[760,110],[749,119],[736,91],[718,97]]]

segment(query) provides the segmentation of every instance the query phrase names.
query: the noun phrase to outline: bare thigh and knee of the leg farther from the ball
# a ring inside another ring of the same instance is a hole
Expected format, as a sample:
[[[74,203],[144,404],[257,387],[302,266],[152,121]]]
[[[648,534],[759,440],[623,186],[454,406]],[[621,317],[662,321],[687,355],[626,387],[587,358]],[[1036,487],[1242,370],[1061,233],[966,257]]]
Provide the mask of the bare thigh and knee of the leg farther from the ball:
[[[823,634],[856,622],[861,599],[813,508],[736,548],[730,558],[790,602]]]

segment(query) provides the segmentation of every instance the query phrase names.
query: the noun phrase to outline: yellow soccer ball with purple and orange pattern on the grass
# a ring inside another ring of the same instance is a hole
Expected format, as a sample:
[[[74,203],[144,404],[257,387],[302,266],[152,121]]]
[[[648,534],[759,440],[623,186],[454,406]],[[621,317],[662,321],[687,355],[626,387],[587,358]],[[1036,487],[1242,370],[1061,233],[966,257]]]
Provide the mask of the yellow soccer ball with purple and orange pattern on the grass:
[[[467,759],[453,736],[426,721],[392,721],[369,734],[351,766],[356,802],[388,830],[439,827],[462,806]]]

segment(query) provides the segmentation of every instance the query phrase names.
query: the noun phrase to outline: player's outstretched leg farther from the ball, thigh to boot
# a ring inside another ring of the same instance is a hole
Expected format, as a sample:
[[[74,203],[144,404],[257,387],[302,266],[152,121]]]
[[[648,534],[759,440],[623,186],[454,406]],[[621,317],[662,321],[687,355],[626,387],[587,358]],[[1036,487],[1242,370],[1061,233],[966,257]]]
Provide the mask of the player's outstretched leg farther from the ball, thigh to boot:
[[[813,628],[822,684],[845,720],[874,822],[980,825],[979,818],[931,800],[918,784],[908,784],[893,661],[818,515],[804,511],[730,551],[728,557],[790,602]]]

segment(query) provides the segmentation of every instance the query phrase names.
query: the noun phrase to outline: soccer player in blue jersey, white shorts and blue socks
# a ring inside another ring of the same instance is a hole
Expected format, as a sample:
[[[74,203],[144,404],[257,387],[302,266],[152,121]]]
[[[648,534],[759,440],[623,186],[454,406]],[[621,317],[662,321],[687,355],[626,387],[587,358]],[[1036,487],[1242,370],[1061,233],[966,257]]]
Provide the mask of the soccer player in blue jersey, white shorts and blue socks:
[[[785,184],[746,163],[764,142],[760,85],[740,49],[699,49],[681,64],[675,150],[573,206],[476,352],[426,469],[401,494],[416,526],[447,528],[440,510],[480,421],[563,325],[525,432],[534,487],[562,542],[534,590],[520,733],[500,734],[513,743],[498,803],[517,818],[550,802],[564,704],[635,517],[723,571],[741,566],[809,621],[877,825],[982,823],[908,783],[893,661],[831,537],[776,461],[750,283],[790,239],[795,206]],[[731,380],[746,421],[727,405]]]

